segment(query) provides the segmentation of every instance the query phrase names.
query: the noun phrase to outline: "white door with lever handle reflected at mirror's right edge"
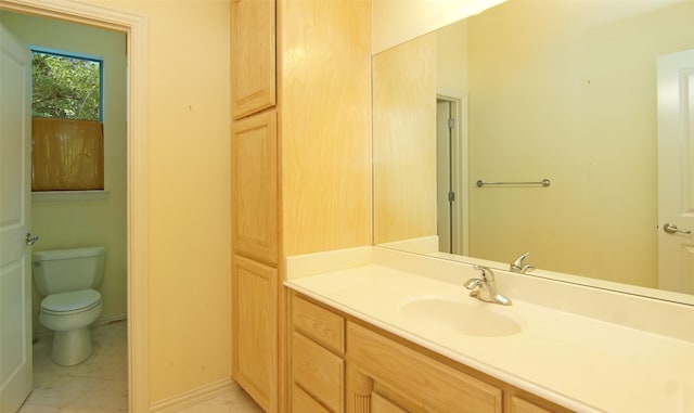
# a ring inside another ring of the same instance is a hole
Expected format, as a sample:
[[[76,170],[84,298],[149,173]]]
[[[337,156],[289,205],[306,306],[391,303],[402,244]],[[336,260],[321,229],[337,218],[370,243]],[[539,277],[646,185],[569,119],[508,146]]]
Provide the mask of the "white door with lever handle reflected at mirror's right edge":
[[[694,50],[658,57],[658,283],[694,294]]]

